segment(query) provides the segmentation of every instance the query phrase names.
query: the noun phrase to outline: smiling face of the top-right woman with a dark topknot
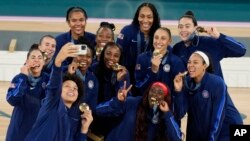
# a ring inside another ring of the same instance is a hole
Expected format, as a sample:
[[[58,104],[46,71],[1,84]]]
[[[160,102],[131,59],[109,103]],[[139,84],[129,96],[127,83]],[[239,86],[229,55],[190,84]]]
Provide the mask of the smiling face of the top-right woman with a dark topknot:
[[[193,20],[188,17],[183,17],[179,21],[178,31],[182,41],[187,41],[189,36],[194,32],[196,26],[194,26]]]

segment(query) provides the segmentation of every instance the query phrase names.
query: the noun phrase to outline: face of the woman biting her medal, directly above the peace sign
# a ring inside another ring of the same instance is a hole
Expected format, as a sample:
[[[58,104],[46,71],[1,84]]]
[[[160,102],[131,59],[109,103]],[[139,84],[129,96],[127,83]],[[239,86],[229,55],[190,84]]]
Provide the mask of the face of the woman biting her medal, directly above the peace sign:
[[[120,49],[117,46],[108,46],[104,51],[104,64],[108,69],[119,62],[121,56]]]

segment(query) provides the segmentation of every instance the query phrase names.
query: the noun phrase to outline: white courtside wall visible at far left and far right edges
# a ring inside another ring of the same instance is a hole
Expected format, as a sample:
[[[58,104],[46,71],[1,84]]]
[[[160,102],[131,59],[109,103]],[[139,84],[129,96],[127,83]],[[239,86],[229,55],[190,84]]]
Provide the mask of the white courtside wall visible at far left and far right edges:
[[[11,81],[20,72],[27,52],[0,51],[0,81]],[[250,87],[250,57],[226,58],[221,62],[228,87]]]

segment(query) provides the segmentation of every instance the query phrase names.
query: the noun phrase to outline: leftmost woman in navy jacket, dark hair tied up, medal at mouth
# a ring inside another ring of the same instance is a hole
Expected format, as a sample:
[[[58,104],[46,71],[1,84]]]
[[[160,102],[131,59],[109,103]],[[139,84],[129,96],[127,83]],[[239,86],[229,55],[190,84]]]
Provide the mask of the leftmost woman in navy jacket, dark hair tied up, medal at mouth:
[[[23,141],[35,123],[49,76],[42,71],[44,57],[38,45],[32,46],[21,73],[11,81],[7,101],[14,106],[6,141]]]

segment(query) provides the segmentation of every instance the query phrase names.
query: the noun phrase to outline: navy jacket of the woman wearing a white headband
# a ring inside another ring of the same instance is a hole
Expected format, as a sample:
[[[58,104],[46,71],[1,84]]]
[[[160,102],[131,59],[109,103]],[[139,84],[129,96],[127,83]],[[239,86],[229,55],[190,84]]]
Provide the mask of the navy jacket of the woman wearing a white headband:
[[[187,83],[194,83],[188,79]],[[229,126],[243,124],[234,106],[224,80],[205,73],[197,90],[186,87],[176,93],[181,115],[188,114],[187,141],[229,141]]]

